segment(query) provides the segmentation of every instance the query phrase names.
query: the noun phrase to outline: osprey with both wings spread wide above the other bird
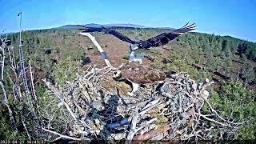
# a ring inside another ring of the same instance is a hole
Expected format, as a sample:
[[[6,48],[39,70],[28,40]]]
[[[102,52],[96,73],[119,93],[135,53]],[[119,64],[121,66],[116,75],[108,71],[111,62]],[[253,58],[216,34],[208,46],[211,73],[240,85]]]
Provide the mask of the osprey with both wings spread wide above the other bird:
[[[80,26],[80,25],[79,25]],[[142,57],[146,54],[145,50],[150,50],[150,47],[157,47],[166,45],[168,42],[174,40],[181,34],[185,34],[191,30],[195,30],[196,26],[193,24],[189,25],[187,23],[185,26],[182,26],[179,29],[171,30],[169,33],[158,34],[153,38],[149,38],[145,41],[134,41],[125,35],[119,33],[116,30],[106,28],[106,27],[86,27],[82,26],[82,33],[90,33],[90,32],[103,32],[105,34],[114,35],[114,37],[119,38],[124,42],[130,43],[130,60],[129,62],[140,62],[142,63]]]

